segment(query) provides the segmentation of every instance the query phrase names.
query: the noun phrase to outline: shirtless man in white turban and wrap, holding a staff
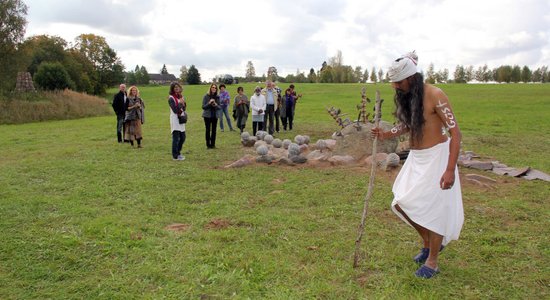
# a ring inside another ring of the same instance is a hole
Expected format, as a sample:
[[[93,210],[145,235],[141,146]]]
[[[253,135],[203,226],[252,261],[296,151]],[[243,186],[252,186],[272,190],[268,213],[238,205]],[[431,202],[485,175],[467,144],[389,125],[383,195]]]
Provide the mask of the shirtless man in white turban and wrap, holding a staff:
[[[388,71],[395,89],[397,125],[373,128],[380,140],[409,134],[411,151],[395,179],[392,210],[420,234],[423,247],[413,260],[417,277],[439,273],[439,252],[457,240],[464,223],[457,160],[461,133],[445,93],[425,84],[417,72],[418,56],[407,53]]]

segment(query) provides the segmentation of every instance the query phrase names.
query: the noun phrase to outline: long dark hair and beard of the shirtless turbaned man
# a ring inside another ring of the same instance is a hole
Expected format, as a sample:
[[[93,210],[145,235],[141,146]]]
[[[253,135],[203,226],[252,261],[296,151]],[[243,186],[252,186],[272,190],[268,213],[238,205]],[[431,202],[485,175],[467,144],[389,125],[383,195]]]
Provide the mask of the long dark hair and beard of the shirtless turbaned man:
[[[413,143],[422,140],[422,128],[424,127],[424,77],[420,73],[407,78],[409,92],[395,92],[395,116],[411,132]]]

